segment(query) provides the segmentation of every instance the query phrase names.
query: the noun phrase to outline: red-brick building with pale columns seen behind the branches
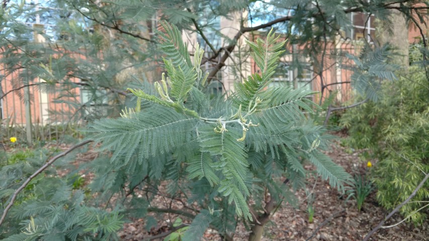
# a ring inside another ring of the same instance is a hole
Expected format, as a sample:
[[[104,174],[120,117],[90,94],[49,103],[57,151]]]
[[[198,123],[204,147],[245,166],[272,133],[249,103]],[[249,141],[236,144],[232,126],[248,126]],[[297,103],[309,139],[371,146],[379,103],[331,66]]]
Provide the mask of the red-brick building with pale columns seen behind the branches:
[[[214,26],[217,26],[222,35],[225,37],[233,38],[239,29],[240,19],[246,18],[245,13],[236,13],[230,18],[219,17],[216,20]],[[320,77],[319,70],[317,67],[313,66],[313,63],[309,58],[302,58],[299,61],[302,63],[301,69],[292,69],[290,68],[290,63],[293,61],[293,54],[285,56],[281,60],[278,71],[274,76],[274,85],[278,84],[288,84],[295,87],[306,86],[309,89],[315,91],[322,91],[322,83],[325,86],[323,89],[323,95],[327,96],[329,92],[338,91],[337,100],[338,101],[347,101],[351,96],[351,86],[350,86],[350,76],[351,71],[340,68],[341,64],[353,64],[350,60],[344,58],[343,62],[337,61],[337,56],[339,53],[348,52],[350,54],[359,53],[362,44],[360,40],[366,38],[367,41],[372,42],[376,36],[376,20],[373,16],[368,19],[368,16],[360,13],[350,14],[351,21],[353,23],[353,28],[350,31],[344,32],[342,38],[337,37],[334,41],[331,41],[327,44],[326,55],[323,58],[323,70]],[[33,23],[34,25],[40,23]],[[427,29],[423,28],[422,31],[424,34],[427,34]],[[207,36],[211,36],[210,33],[206,33]],[[246,33],[243,35],[238,42],[238,47],[234,49],[234,52],[231,53],[233,58],[228,58],[225,62],[225,67],[218,73],[217,80],[212,81],[210,88],[213,91],[228,91],[232,90],[233,82],[242,80],[241,76],[247,76],[250,73],[258,72],[258,68],[255,66],[249,56],[245,56],[244,46],[245,39],[252,40],[257,37],[258,33]],[[184,39],[188,41],[188,46],[190,51],[192,51],[193,46],[196,43],[199,43],[201,46],[205,47],[206,51],[210,54],[210,49],[205,45],[204,41],[200,36],[195,33],[183,33]],[[420,36],[420,30],[415,26],[415,24],[410,23],[408,32],[404,33],[402,38],[407,38],[409,43],[417,41],[417,36]],[[36,36],[37,38],[37,36]],[[213,45],[218,48],[225,46],[227,43],[222,39],[216,39],[213,35],[212,38],[209,38],[210,41],[213,41]],[[294,51],[299,51],[302,46],[287,46],[290,53]],[[295,48],[295,50],[294,50]],[[243,51],[243,52],[241,52]],[[234,61],[235,60],[235,61]],[[320,59],[319,59],[320,60]],[[319,61],[320,62],[320,61]],[[239,65],[237,66],[237,63]],[[210,70],[213,66],[206,63],[206,70]],[[3,69],[3,68],[2,68]],[[18,71],[6,74],[3,69],[0,72],[2,77],[0,81],[1,90],[3,93],[8,93],[14,88],[19,86],[13,85],[13,80],[17,78]],[[43,81],[42,79],[34,79],[30,83],[37,83]],[[76,82],[79,80],[76,79]],[[0,91],[0,93],[2,92]],[[28,91],[28,92],[26,92]],[[68,90],[71,93],[69,101],[76,101],[76,103],[86,102],[91,96],[90,93],[85,92],[84,89],[80,87],[75,87]],[[25,108],[25,96],[30,96],[30,108]],[[0,118],[9,121],[14,124],[25,124],[26,123],[26,113],[30,113],[31,122],[38,124],[46,123],[58,123],[62,121],[60,115],[51,116],[50,112],[67,112],[70,109],[65,104],[56,103],[55,100],[58,98],[60,93],[47,93],[43,90],[40,90],[36,86],[32,85],[28,88],[22,88],[19,91],[14,91],[8,93],[3,99],[0,100]],[[312,96],[313,101],[318,101],[320,95]]]

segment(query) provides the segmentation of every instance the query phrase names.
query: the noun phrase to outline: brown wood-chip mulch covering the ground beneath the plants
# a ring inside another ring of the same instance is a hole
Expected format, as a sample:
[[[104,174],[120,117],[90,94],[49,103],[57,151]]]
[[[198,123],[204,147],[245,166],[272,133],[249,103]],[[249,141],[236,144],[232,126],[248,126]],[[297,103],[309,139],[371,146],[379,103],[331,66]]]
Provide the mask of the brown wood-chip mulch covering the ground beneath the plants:
[[[357,171],[363,172],[366,163],[359,158],[362,151],[354,151],[341,147],[336,143],[331,151],[326,154],[332,160],[341,165],[353,174]],[[373,165],[377,165],[376,161]],[[312,166],[307,166],[312,169]],[[308,180],[308,188],[312,189],[316,180]],[[336,189],[332,189],[326,181],[320,178],[314,186],[316,194],[314,200],[314,218],[313,222],[308,222],[307,195],[304,190],[296,193],[299,200],[299,208],[293,208],[291,205],[283,205],[271,218],[271,222],[266,225],[262,240],[362,240],[362,238],[375,227],[388,213],[378,205],[375,199],[375,192],[367,197],[362,210],[359,212],[356,206],[356,200],[340,198]],[[159,196],[153,202],[154,205],[162,207],[165,200]],[[174,203],[175,208],[183,208],[182,203]],[[168,230],[171,222],[174,222],[177,215],[163,215],[164,221],[158,222],[158,225],[152,227],[149,231],[145,229],[144,218],[132,219],[132,222],[125,223],[124,229],[118,234],[121,240],[142,240]],[[185,219],[185,218],[184,218]],[[385,225],[392,225],[402,220],[402,217],[395,214]],[[247,240],[249,230],[239,225],[234,234],[234,240]],[[156,240],[162,240],[161,238]],[[216,231],[208,229],[203,240],[220,240]],[[413,226],[411,223],[401,223],[395,227],[380,229],[370,240],[429,240],[429,228],[427,223],[421,226]]]

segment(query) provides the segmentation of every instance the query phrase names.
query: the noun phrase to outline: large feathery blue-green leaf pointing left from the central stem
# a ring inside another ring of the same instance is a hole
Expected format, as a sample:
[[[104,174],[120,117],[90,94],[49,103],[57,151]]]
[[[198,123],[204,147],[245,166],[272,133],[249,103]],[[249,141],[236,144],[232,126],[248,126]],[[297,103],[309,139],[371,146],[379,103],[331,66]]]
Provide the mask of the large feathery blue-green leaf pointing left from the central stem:
[[[90,133],[91,140],[103,141],[100,150],[115,148],[111,162],[126,154],[125,163],[138,152],[138,161],[149,158],[149,153],[169,152],[191,140],[197,120],[174,109],[159,106],[136,113],[132,118],[102,119],[96,121]]]

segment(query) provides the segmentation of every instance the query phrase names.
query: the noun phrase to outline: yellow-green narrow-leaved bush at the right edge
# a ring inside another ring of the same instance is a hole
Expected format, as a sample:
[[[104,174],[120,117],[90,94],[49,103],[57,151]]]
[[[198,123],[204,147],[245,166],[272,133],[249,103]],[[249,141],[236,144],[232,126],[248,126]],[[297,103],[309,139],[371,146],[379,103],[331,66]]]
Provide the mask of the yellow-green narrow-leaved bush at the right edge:
[[[429,82],[424,70],[411,67],[395,82],[384,83],[378,102],[348,110],[340,125],[348,129],[348,143],[368,148],[375,163],[377,199],[386,208],[404,201],[429,171]],[[429,183],[413,200],[429,200]],[[424,203],[423,203],[424,204]],[[414,223],[426,215],[422,202],[410,202],[400,212]]]

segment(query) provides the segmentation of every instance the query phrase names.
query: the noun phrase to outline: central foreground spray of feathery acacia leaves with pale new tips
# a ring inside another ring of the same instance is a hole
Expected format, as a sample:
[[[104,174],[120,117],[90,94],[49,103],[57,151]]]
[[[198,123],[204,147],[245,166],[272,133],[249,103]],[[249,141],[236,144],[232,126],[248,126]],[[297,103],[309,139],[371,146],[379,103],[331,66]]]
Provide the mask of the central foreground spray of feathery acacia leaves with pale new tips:
[[[203,50],[197,45],[191,61],[177,27],[166,22],[162,27],[158,46],[167,73],[154,82],[156,94],[129,89],[138,97],[137,107],[121,118],[96,121],[89,132],[101,151],[113,151],[111,165],[145,169],[149,182],[168,180],[171,193],[192,193],[188,201],[202,209],[189,232],[202,235],[212,224],[228,233],[235,229],[235,215],[253,220],[249,200],[261,202],[263,188],[273,198],[292,200],[281,179],[302,181],[305,160],[334,187],[341,189],[350,179],[320,152],[326,147],[323,131],[306,121],[303,110],[318,107],[305,98],[312,92],[270,86],[285,42],[272,32],[266,40],[248,42],[261,74],[236,83],[230,97],[213,98],[206,93],[207,74],[199,68]],[[143,174],[136,174],[141,180]]]

